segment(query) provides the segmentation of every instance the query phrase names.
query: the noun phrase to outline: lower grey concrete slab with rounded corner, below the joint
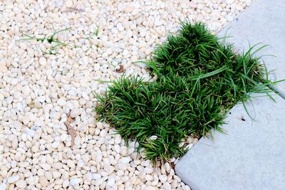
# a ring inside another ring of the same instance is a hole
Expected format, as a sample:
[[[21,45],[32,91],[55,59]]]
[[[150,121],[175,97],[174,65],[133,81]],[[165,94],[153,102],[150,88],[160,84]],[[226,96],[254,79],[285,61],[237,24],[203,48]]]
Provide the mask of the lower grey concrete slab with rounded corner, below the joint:
[[[276,97],[254,98],[236,105],[224,125],[227,134],[199,139],[175,167],[176,174],[192,190],[284,190],[285,101]]]

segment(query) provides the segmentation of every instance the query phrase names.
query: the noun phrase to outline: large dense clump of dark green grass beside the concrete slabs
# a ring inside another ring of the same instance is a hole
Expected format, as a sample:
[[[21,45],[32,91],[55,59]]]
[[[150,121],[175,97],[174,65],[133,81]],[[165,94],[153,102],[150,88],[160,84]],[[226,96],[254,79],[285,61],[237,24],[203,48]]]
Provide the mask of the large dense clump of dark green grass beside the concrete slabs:
[[[181,157],[187,151],[182,139],[223,132],[227,112],[249,100],[249,93],[271,97],[273,83],[254,57],[261,48],[239,54],[203,23],[182,23],[145,61],[157,80],[119,78],[105,95],[96,95],[95,111],[123,138],[138,142],[138,150],[145,148],[152,162]]]

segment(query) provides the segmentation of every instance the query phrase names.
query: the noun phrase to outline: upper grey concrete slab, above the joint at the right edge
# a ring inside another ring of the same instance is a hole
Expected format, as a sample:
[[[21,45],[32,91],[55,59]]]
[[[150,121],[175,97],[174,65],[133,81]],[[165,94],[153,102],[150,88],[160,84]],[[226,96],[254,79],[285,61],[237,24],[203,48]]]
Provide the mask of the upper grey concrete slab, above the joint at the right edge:
[[[285,78],[285,1],[284,0],[257,0],[237,19],[229,23],[219,32],[219,36],[232,36],[227,38],[233,42],[239,51],[245,51],[254,44],[269,45],[257,56],[263,57],[268,70],[274,70],[270,75],[271,80]],[[285,92],[285,83],[279,83],[277,88]]]

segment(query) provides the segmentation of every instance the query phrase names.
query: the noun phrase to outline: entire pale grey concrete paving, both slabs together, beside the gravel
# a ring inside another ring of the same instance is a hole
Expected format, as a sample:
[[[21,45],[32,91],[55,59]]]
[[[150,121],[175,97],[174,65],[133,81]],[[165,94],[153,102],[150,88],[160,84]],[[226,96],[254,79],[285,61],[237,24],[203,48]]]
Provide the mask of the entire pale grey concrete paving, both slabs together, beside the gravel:
[[[285,0],[257,0],[219,36],[243,51],[256,43],[269,45],[263,57],[271,80],[285,78]],[[285,94],[285,83],[276,89]],[[236,105],[223,125],[227,134],[202,138],[177,163],[176,174],[192,190],[284,190],[285,189],[285,100],[257,97],[247,103],[251,120],[242,105]],[[253,108],[254,107],[254,108]]]

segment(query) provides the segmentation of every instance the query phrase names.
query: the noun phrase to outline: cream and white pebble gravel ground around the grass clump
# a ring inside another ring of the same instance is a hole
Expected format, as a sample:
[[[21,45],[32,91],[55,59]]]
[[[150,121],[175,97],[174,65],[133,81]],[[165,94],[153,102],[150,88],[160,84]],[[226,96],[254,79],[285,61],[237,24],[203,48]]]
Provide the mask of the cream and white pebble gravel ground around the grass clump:
[[[95,80],[114,80],[121,71],[150,80],[135,61],[149,57],[180,20],[217,31],[251,3],[1,1],[0,189],[190,189],[175,175],[177,160],[152,167],[137,157],[134,142],[127,148],[109,125],[95,121],[92,92],[108,85]],[[52,48],[48,41],[17,41],[23,33],[42,38],[68,27],[56,38],[70,46],[55,55],[42,52]]]

